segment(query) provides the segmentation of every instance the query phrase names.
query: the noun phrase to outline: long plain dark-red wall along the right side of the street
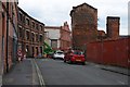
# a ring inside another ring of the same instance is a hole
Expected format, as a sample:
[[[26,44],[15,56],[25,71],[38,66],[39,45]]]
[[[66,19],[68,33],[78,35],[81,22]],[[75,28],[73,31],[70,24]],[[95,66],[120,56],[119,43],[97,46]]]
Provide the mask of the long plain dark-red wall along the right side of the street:
[[[130,38],[106,40],[87,45],[87,60],[95,63],[128,66]]]

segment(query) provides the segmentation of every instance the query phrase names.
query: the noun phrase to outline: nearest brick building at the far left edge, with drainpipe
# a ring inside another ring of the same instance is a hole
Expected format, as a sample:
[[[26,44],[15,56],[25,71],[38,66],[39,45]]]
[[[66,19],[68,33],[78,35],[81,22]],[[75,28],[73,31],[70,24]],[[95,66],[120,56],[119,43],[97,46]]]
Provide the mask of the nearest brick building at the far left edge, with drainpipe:
[[[0,1],[0,74],[16,62],[17,2]]]

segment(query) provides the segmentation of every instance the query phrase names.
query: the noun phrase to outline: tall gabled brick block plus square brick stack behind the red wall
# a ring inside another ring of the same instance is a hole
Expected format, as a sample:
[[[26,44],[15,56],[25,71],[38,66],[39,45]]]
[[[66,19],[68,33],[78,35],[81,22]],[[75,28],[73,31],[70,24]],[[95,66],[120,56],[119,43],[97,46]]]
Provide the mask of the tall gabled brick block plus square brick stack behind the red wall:
[[[70,16],[74,49],[82,49],[92,41],[119,38],[120,17],[118,16],[107,16],[106,34],[104,30],[98,30],[98,9],[87,3],[73,7]]]

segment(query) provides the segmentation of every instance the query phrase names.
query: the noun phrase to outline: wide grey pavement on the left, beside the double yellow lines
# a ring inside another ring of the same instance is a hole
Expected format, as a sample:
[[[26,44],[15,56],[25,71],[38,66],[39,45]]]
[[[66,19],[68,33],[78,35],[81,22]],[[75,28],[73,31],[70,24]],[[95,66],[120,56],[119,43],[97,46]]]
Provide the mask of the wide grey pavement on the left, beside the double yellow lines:
[[[32,65],[30,60],[23,60],[3,76],[4,85],[32,85]]]

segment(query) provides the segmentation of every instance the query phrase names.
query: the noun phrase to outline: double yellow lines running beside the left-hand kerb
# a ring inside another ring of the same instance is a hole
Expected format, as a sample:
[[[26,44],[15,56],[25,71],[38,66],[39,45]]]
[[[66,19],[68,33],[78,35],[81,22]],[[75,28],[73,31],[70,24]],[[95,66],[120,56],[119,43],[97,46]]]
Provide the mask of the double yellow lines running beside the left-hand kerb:
[[[40,86],[41,86],[41,87],[46,87],[46,83],[44,83],[44,79],[43,79],[43,77],[42,77],[41,71],[40,71],[38,64],[36,63],[35,59],[32,59],[32,61],[34,61],[34,64],[35,64],[35,66],[36,66],[36,72],[37,72],[37,74],[38,74],[38,78],[39,78],[39,82],[40,82]]]

